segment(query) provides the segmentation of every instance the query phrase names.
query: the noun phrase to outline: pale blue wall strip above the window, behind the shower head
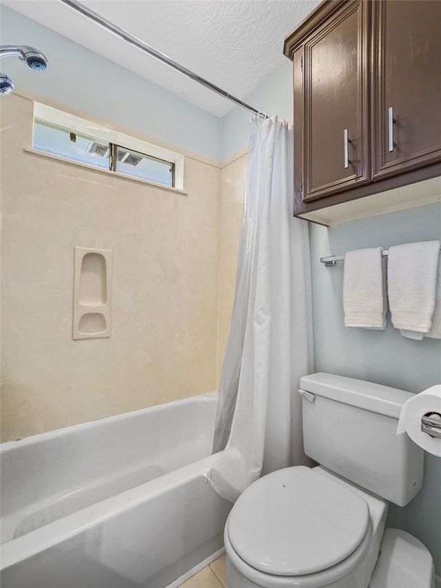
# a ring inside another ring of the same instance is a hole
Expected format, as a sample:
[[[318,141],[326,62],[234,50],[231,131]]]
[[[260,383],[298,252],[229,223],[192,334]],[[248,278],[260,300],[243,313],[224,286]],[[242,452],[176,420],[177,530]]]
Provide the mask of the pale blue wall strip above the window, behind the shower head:
[[[222,121],[189,102],[56,32],[1,6],[1,43],[34,45],[48,57],[37,74],[17,58],[1,59],[1,71],[17,90],[37,94],[152,139],[220,160]]]

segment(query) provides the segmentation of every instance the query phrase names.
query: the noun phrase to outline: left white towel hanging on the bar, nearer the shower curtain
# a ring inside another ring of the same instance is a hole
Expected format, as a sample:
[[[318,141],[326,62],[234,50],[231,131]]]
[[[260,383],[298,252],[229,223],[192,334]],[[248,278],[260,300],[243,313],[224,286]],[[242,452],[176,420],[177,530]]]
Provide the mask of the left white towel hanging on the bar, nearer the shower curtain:
[[[382,247],[348,251],[343,276],[346,327],[386,327],[386,260]]]

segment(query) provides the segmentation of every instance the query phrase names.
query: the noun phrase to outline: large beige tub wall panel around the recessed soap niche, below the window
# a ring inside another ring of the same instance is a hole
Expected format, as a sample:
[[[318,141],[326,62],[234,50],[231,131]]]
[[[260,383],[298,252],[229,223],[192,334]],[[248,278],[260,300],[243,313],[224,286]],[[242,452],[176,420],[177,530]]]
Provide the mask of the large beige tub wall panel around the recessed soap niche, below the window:
[[[2,100],[1,440],[215,389],[219,168],[110,177],[25,152],[32,119]],[[110,338],[72,340],[75,246],[112,251]]]

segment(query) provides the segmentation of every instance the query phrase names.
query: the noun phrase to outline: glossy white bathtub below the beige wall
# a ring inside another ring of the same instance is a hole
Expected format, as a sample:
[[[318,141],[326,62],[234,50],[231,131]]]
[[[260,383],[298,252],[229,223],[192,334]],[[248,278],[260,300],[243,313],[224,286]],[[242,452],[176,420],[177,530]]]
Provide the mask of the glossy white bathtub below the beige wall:
[[[3,443],[2,588],[170,588],[223,552],[216,392]]]

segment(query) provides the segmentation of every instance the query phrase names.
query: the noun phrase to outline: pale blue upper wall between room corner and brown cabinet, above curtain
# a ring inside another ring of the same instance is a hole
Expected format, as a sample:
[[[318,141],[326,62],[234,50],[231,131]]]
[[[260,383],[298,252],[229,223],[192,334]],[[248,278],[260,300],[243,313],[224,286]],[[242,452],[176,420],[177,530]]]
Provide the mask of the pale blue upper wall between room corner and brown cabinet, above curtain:
[[[249,105],[271,116],[277,114],[279,119],[293,120],[292,99],[292,63],[287,59],[275,74],[260,85],[245,99]],[[249,136],[249,118],[252,112],[235,106],[222,121],[222,159],[247,147]]]

